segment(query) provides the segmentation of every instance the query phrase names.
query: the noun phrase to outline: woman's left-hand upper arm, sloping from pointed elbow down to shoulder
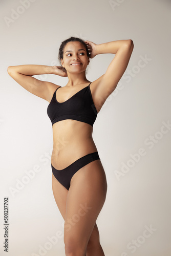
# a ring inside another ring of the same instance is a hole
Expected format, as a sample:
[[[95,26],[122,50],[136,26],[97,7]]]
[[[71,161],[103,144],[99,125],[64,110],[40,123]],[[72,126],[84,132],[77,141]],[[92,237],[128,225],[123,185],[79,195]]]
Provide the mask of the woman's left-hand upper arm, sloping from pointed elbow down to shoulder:
[[[13,72],[12,70],[10,70],[10,67],[8,67],[8,74],[28,92],[42,99],[45,99],[48,102],[51,101],[52,94],[58,87],[56,84],[52,82],[41,81],[32,76],[23,75],[18,72]]]

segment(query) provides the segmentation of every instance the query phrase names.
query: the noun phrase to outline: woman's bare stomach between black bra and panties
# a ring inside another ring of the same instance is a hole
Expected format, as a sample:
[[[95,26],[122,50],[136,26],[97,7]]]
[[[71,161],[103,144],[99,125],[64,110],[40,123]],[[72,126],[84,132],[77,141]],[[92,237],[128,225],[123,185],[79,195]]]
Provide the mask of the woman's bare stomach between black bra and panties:
[[[80,157],[97,152],[90,124],[67,119],[54,123],[52,129],[51,163],[54,168],[64,169]]]

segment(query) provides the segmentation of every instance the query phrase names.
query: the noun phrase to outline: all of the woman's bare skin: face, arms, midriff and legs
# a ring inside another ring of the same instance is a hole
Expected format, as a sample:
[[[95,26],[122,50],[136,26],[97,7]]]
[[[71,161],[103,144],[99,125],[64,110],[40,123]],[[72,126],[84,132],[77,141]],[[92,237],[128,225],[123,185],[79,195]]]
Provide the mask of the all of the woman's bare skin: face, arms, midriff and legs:
[[[98,54],[116,54],[105,74],[90,84],[92,98],[97,112],[100,111],[106,98],[115,90],[122,77],[132,54],[132,40],[118,40],[96,45],[86,41],[90,58]],[[22,87],[34,95],[51,101],[54,91],[59,87],[54,83],[40,81],[32,75],[56,74],[67,77],[68,83],[59,88],[56,98],[64,102],[90,81],[86,78],[86,68],[89,65],[84,46],[80,42],[69,42],[65,49],[62,67],[42,65],[21,65],[8,68],[9,75]],[[70,51],[67,52],[66,51]],[[83,54],[85,53],[85,54]],[[71,63],[81,63],[71,66]],[[53,152],[51,162],[56,169],[63,169],[80,157],[98,151],[92,138],[93,127],[88,123],[76,120],[62,120],[53,125]],[[64,242],[66,256],[104,256],[99,242],[99,232],[96,220],[104,204],[107,190],[105,172],[100,160],[95,160],[78,170],[72,177],[69,191],[52,175],[52,188],[55,201],[65,220]],[[77,223],[67,230],[68,221],[80,210],[80,204],[91,209]]]

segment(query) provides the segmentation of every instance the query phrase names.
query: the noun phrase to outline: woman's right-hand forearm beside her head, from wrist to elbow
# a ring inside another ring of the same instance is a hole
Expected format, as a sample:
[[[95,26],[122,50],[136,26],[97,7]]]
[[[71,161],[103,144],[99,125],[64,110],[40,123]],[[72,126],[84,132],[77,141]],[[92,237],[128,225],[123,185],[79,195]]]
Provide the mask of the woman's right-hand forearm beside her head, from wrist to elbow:
[[[96,52],[96,55],[102,54],[102,53],[116,54],[120,48],[132,47],[132,46],[133,46],[133,41],[131,39],[117,40],[117,41],[105,42],[104,44],[96,45],[95,52]]]

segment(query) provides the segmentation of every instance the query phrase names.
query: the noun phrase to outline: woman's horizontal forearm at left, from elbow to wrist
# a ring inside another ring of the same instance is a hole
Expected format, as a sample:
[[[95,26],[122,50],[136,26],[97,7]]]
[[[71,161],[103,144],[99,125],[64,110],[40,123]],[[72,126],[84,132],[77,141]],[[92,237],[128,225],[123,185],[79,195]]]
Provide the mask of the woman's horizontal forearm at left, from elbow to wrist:
[[[8,73],[17,72],[23,75],[34,76],[41,74],[53,74],[53,67],[45,65],[19,65],[9,66]]]

